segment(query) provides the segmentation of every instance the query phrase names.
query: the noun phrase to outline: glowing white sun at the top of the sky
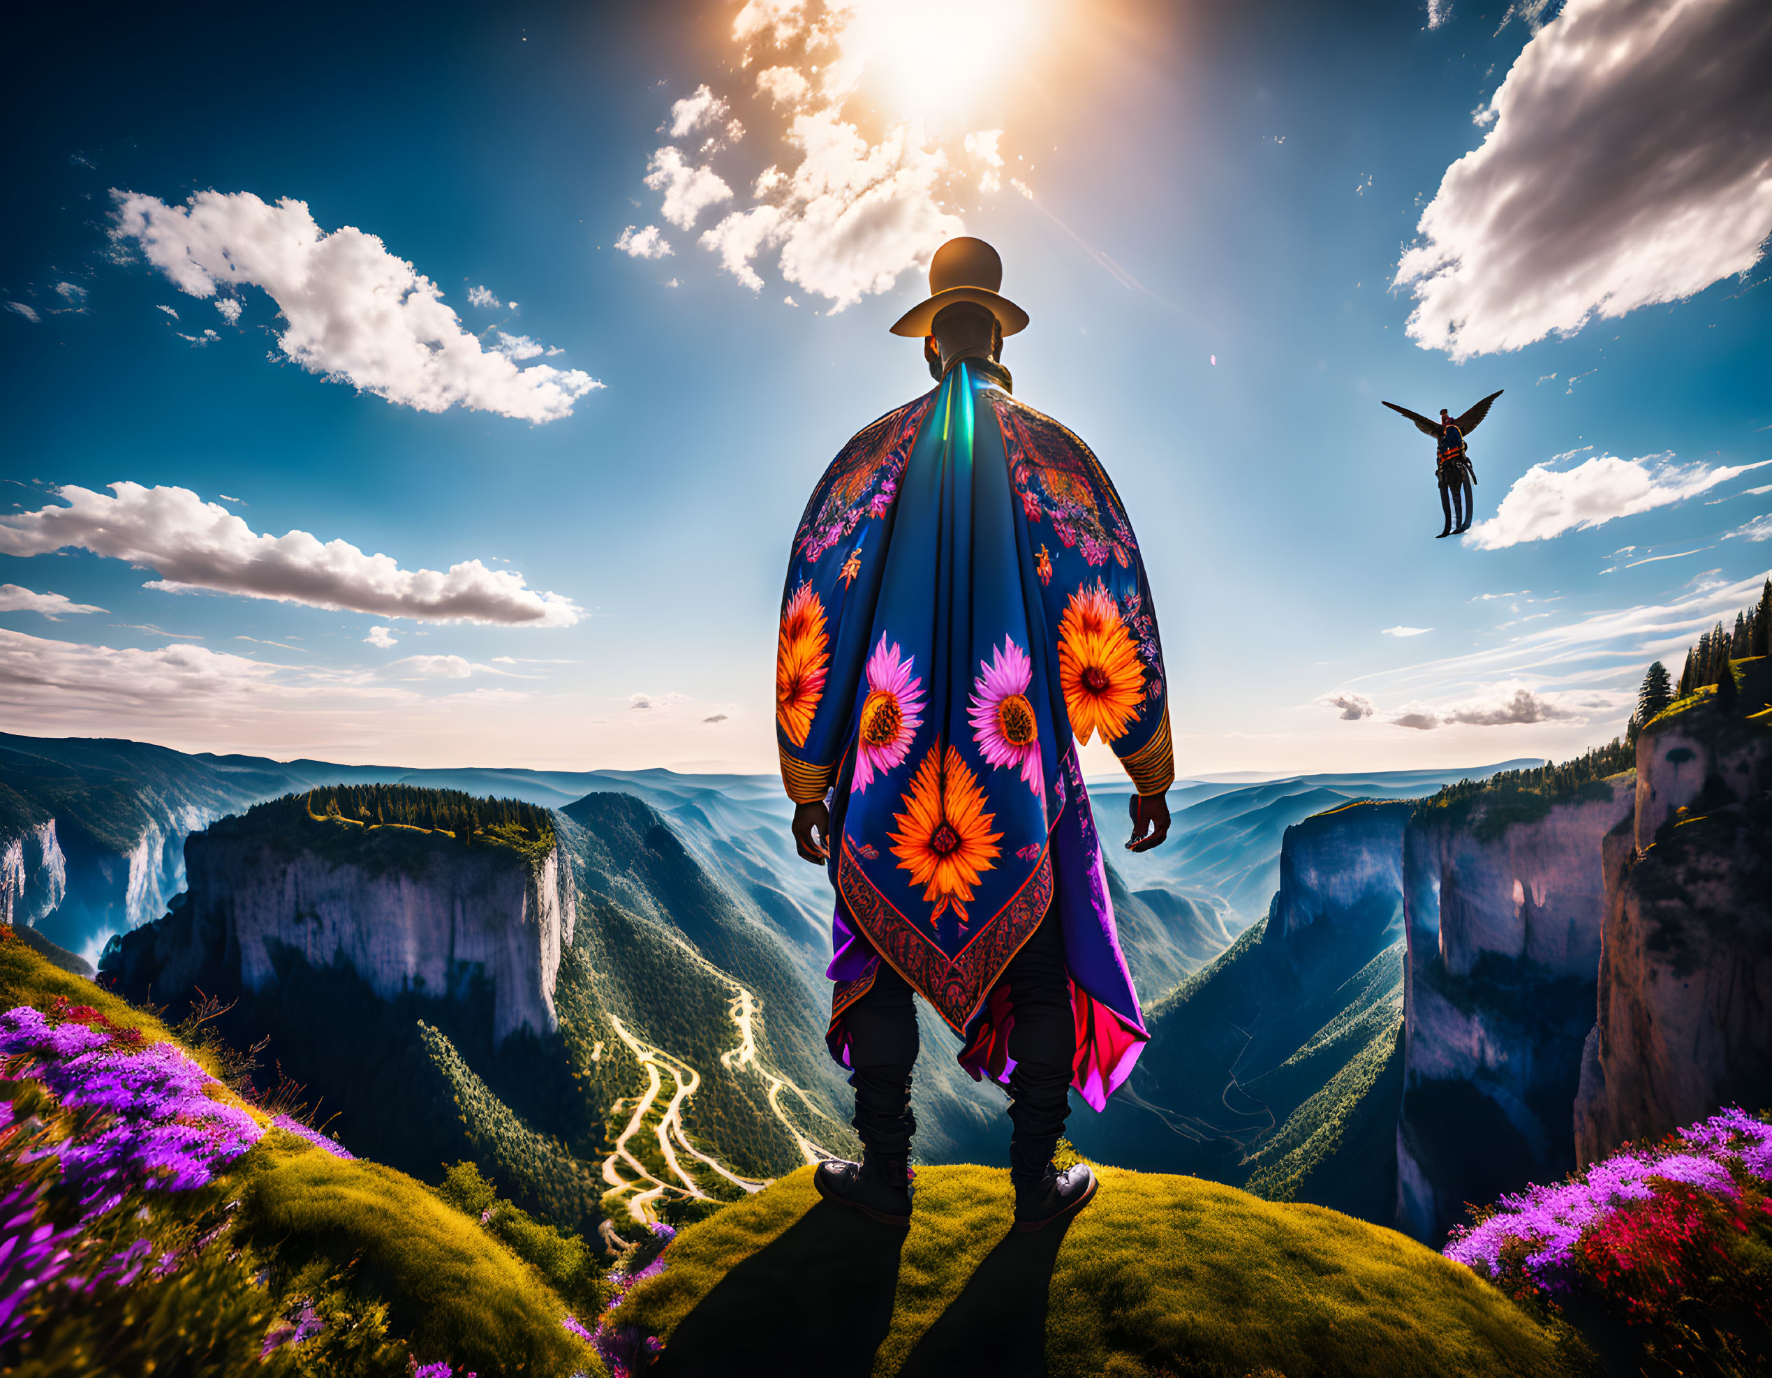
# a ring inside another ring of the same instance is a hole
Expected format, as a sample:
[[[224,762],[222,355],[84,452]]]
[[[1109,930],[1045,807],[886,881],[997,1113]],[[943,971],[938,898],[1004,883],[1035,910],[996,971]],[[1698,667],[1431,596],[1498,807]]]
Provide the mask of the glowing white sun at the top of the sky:
[[[888,119],[953,133],[992,119],[1060,28],[1065,0],[859,0],[842,62]]]

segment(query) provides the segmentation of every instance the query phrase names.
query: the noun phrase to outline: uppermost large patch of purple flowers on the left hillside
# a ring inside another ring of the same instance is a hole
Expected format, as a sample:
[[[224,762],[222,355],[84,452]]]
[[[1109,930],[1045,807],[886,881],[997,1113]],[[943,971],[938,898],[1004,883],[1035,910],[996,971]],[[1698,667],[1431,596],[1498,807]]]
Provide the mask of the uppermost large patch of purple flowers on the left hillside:
[[[57,1150],[62,1180],[89,1217],[133,1187],[204,1187],[264,1134],[209,1095],[220,1082],[175,1043],[140,1047],[138,1036],[74,1020],[51,1026],[41,1010],[18,1006],[0,1013],[0,1059],[14,1080],[39,1080],[64,1107],[101,1114],[90,1134]]]

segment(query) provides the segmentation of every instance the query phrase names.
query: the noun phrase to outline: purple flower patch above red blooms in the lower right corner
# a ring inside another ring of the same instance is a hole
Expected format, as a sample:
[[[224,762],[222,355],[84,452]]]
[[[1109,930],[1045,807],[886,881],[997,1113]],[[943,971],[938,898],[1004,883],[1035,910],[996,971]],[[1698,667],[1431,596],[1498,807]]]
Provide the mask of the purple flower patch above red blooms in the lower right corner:
[[[1503,1250],[1510,1243],[1526,1245],[1527,1275],[1542,1288],[1565,1291],[1574,1282],[1582,1238],[1628,1203],[1653,1199],[1659,1183],[1733,1201],[1740,1194],[1737,1174],[1772,1183],[1772,1125],[1738,1105],[1659,1146],[1627,1146],[1568,1181],[1501,1197],[1488,1219],[1453,1229],[1446,1256],[1497,1275]]]

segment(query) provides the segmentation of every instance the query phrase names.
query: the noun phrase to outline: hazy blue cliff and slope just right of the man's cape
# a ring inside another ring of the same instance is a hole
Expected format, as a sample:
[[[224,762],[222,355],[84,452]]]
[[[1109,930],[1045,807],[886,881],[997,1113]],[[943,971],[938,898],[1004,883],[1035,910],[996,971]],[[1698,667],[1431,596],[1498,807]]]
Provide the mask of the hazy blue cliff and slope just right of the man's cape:
[[[1146,1010],[1129,1093],[1070,1119],[1084,1153],[1232,1183],[1260,1173],[1283,1199],[1389,1222],[1391,1137],[1372,1151],[1350,1135],[1395,1123],[1407,818],[1409,804],[1363,802],[1286,829],[1267,917]],[[1350,1157],[1363,1171],[1343,1171]]]

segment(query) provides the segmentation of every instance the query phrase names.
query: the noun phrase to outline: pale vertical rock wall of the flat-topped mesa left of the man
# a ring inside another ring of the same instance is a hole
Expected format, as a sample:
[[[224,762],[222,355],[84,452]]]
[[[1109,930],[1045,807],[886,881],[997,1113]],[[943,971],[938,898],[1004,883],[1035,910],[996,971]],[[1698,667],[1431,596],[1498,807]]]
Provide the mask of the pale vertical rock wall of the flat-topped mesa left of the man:
[[[152,969],[156,994],[175,995],[220,965],[230,988],[264,994],[294,960],[342,964],[383,999],[459,995],[484,979],[494,1043],[558,1029],[555,976],[578,909],[558,845],[532,864],[408,829],[349,841],[289,845],[243,818],[193,834],[181,912],[122,944],[126,985]]]

